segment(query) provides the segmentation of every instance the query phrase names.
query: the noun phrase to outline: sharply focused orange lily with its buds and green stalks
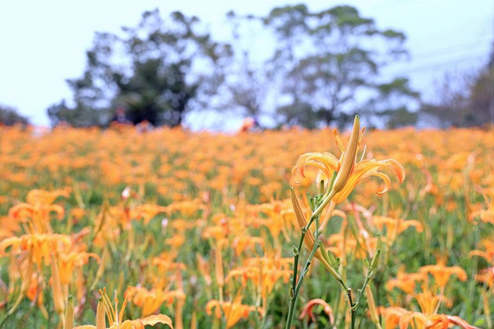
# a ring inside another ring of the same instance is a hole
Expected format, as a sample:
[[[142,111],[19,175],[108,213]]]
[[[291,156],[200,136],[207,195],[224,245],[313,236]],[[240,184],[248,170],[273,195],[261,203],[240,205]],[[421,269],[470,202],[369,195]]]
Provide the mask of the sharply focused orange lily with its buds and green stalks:
[[[350,194],[355,185],[364,177],[375,175],[382,178],[385,181],[386,186],[384,190],[382,190],[381,192],[377,192],[377,194],[382,194],[387,191],[387,188],[389,186],[389,177],[377,171],[377,168],[379,166],[386,165],[391,168],[393,173],[398,176],[400,182],[402,182],[405,178],[405,171],[403,170],[403,167],[401,166],[401,164],[397,163],[394,160],[385,160],[381,162],[375,160],[362,160],[357,164],[357,153],[364,129],[362,130],[362,132],[360,131],[360,119],[359,116],[356,116],[353,123],[350,141],[346,149],[343,148],[341,140],[339,139],[336,131],[334,131],[334,134],[336,136],[336,144],[342,152],[339,161],[337,160],[337,158],[329,153],[307,153],[301,155],[297,160],[297,164],[293,167],[292,174],[298,173],[302,177],[305,177],[304,167],[306,164],[311,164],[318,167],[326,176],[326,178],[330,177],[331,172],[332,176],[329,180],[328,188],[326,190],[324,188],[324,181],[322,181],[319,185],[319,194],[315,197],[308,196],[308,204],[312,210],[312,214],[309,218],[308,223],[306,222],[305,216],[300,209],[300,205],[298,204],[298,200],[295,196],[294,190],[291,189],[291,202],[293,205],[297,223],[301,230],[301,235],[298,247],[293,246],[293,275],[291,278],[290,304],[288,309],[287,325],[285,327],[286,329],[289,329],[291,327],[296,300],[302,286],[302,282],[309,270],[309,266],[314,257],[318,258],[323,263],[328,272],[340,283],[340,285],[346,292],[351,313],[351,328],[355,328],[356,315],[360,303],[360,298],[362,296],[362,293],[366,290],[372,277],[374,276],[374,270],[380,258],[381,239],[380,237],[378,238],[377,248],[371,261],[367,259],[365,261],[367,273],[365,276],[364,284],[361,289],[357,290],[357,298],[354,301],[352,297],[352,289],[348,288],[345,281],[337,271],[339,267],[339,259],[335,260],[332,253],[322,247],[322,241],[319,241],[319,236],[323,233],[324,228],[326,227],[326,224],[331,217],[331,212],[334,209],[334,206],[342,202],[348,196],[348,194]],[[322,218],[323,210],[328,205],[329,207]],[[322,220],[322,222],[320,222],[320,220]],[[315,224],[314,233],[311,232],[311,226],[313,223]],[[298,262],[302,243],[304,243],[307,249],[310,250],[310,254],[297,280]]]

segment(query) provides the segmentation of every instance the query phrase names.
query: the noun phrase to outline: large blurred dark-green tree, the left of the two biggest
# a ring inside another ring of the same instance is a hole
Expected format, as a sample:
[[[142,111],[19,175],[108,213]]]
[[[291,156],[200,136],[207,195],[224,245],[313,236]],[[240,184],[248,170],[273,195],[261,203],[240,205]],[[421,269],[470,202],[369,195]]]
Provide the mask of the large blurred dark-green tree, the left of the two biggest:
[[[52,123],[101,125],[124,106],[133,123],[181,124],[188,110],[204,108],[215,95],[231,56],[229,44],[197,32],[198,24],[178,11],[165,21],[156,9],[121,35],[97,33],[82,78],[67,81],[75,107],[51,106]]]

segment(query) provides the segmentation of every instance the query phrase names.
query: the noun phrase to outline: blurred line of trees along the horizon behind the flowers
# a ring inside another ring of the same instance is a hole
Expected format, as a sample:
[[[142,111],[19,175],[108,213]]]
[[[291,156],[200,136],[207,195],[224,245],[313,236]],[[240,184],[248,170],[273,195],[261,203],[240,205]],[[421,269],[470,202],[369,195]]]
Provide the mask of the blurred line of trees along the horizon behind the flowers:
[[[343,125],[355,113],[387,127],[494,120],[491,65],[468,79],[445,79],[438,101],[424,104],[407,77],[384,81],[380,73],[407,58],[405,34],[379,29],[352,6],[288,5],[266,17],[227,18],[228,42],[214,40],[196,16],[158,10],[119,34],[96,33],[82,76],[67,80],[73,100],[47,109],[51,124],[176,126],[201,110],[307,128]],[[254,34],[262,41],[253,42]],[[11,108],[0,108],[0,120],[27,121]]]

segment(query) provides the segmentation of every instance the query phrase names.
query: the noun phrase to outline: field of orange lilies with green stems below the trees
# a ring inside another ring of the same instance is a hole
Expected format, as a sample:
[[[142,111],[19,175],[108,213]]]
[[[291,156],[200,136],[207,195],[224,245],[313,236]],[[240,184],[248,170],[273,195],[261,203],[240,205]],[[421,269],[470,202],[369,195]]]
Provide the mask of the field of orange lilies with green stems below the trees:
[[[340,136],[1,127],[1,326],[493,328],[494,131]]]

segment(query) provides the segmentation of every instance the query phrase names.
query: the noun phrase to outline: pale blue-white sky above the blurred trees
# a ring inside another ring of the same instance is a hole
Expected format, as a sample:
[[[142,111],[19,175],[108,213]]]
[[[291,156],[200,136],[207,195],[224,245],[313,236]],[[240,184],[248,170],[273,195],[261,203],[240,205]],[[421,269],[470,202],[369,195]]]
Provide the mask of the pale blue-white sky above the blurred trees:
[[[48,125],[46,108],[72,99],[65,80],[82,75],[94,32],[134,26],[145,10],[197,15],[214,38],[231,27],[225,14],[267,15],[291,0],[16,0],[0,2],[0,104],[16,108],[37,125]],[[408,76],[425,100],[435,97],[446,72],[469,72],[487,63],[494,38],[493,0],[305,1],[311,11],[338,4],[356,6],[379,28],[407,35],[411,58],[393,64],[384,77]],[[256,47],[263,45],[253,45]],[[267,46],[267,45],[266,45]]]

